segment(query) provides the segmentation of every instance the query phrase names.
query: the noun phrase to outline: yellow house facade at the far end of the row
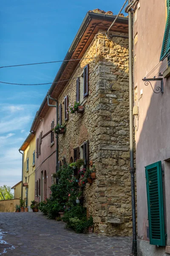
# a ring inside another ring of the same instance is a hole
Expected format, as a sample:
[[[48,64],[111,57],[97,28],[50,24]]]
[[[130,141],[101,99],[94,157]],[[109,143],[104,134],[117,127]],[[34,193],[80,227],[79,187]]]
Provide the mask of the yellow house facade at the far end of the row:
[[[31,201],[35,198],[35,134],[30,133],[20,151],[23,151],[23,199],[26,201],[28,211],[32,211]]]

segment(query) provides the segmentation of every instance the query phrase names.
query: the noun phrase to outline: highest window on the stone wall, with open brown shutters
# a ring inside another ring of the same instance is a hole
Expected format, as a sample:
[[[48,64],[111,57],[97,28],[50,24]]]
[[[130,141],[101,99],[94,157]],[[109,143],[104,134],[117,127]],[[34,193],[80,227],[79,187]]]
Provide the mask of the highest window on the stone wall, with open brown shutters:
[[[76,80],[76,100],[80,103],[88,96],[89,65],[84,67],[81,76]]]

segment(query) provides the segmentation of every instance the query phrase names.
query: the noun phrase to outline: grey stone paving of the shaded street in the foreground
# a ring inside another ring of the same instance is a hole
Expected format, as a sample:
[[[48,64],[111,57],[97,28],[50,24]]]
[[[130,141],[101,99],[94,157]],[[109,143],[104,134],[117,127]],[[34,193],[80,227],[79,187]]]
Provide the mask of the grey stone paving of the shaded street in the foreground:
[[[128,256],[131,237],[76,234],[41,212],[0,212],[0,255]],[[5,247],[5,248],[4,248]]]

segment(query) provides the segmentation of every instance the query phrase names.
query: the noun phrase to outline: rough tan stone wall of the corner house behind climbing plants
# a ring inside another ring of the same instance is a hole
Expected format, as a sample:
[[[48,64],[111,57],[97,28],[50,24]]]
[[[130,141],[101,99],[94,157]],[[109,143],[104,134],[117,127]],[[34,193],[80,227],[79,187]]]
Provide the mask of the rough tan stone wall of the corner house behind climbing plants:
[[[102,32],[102,31],[99,31]],[[96,165],[96,179],[84,189],[88,215],[94,218],[94,232],[106,235],[132,234],[128,39],[97,35],[84,59],[59,97],[76,99],[76,77],[89,64],[89,96],[83,114],[69,114],[65,135],[59,135],[59,160],[69,163],[73,148],[89,140],[90,160]],[[75,78],[75,79],[74,79]]]

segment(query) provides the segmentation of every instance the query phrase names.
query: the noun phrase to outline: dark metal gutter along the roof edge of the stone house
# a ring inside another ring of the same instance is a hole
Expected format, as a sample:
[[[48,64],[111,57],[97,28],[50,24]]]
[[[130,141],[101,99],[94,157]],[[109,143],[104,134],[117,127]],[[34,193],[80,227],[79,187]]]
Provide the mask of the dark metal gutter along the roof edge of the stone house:
[[[50,89],[46,93],[45,98],[43,99],[43,102],[40,105],[40,108],[39,108],[39,110],[36,113],[34,121],[32,122],[32,125],[31,125],[30,132],[33,130],[33,127],[34,127],[34,124],[35,124],[35,122],[37,120],[37,117],[40,115],[40,113],[42,111],[42,108],[44,107],[45,103],[47,102],[47,96],[51,95],[51,93],[53,92],[54,87],[56,86],[56,82],[60,79],[60,77],[62,75],[62,72],[63,72],[63,70],[65,69],[65,67],[66,67],[66,65],[68,63],[68,61],[65,61],[65,60],[69,60],[71,58],[71,55],[74,52],[75,47],[77,46],[80,38],[82,37],[82,34],[83,34],[85,28],[88,26],[88,23],[91,21],[92,18],[96,19],[96,20],[113,21],[113,20],[116,19],[116,15],[112,16],[112,15],[105,15],[105,14],[100,14],[100,13],[95,13],[95,12],[87,12],[87,14],[85,15],[85,18],[82,21],[82,24],[79,27],[79,30],[78,30],[78,32],[77,32],[77,34],[76,34],[76,36],[75,36],[75,38],[74,38],[74,40],[72,42],[72,44],[71,44],[67,54],[65,55],[64,61],[62,62],[61,67],[59,68],[59,71],[57,72],[57,75],[56,75],[53,83],[51,84]],[[118,17],[117,18],[117,22],[128,24],[128,18],[126,18],[126,17]]]

